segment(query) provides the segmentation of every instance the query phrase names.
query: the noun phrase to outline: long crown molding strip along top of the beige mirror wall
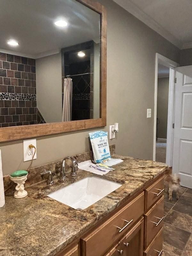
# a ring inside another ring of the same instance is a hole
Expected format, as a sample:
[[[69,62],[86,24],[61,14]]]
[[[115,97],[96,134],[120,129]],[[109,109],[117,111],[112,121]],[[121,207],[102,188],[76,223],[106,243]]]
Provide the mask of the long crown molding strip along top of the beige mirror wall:
[[[181,41],[174,37],[170,32],[159,25],[148,14],[143,12],[136,4],[133,4],[130,0],[113,0],[116,4],[123,7],[127,12],[130,12],[137,19],[145,23],[149,28],[155,30],[159,35],[163,36],[169,42],[181,49]]]

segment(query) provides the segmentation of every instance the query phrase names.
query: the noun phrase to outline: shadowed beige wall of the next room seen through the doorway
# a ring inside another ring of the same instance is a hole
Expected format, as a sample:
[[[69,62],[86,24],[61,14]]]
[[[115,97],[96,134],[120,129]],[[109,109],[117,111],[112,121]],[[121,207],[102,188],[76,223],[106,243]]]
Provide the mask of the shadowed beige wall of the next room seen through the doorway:
[[[167,115],[169,99],[169,77],[158,78],[157,89],[157,137],[167,138]]]

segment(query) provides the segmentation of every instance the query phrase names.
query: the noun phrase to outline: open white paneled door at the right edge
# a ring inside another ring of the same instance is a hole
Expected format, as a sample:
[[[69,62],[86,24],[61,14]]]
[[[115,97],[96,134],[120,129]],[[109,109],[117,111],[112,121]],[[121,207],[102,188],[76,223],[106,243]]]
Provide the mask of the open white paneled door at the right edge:
[[[176,69],[173,173],[192,188],[192,66]]]

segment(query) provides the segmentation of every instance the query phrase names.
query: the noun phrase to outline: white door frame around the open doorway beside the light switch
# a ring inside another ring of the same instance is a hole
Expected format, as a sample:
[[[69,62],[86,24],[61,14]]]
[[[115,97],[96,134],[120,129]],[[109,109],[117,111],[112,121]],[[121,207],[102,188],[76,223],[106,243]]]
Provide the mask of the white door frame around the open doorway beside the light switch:
[[[155,57],[155,95],[154,95],[154,132],[153,132],[153,161],[156,160],[156,127],[157,127],[157,87],[158,87],[158,64],[170,68],[169,74],[169,96],[168,96],[168,117],[167,117],[167,147],[166,164],[172,166],[173,151],[173,118],[174,118],[174,79],[175,68],[179,64],[156,52]]]

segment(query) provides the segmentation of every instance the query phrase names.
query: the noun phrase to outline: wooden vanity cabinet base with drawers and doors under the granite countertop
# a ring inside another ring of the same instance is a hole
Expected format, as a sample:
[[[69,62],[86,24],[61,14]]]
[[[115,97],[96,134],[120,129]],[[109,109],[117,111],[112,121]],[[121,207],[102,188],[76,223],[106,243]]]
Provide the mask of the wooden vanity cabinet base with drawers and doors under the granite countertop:
[[[162,255],[163,195],[164,175],[160,175],[69,245],[69,250],[56,255]]]

